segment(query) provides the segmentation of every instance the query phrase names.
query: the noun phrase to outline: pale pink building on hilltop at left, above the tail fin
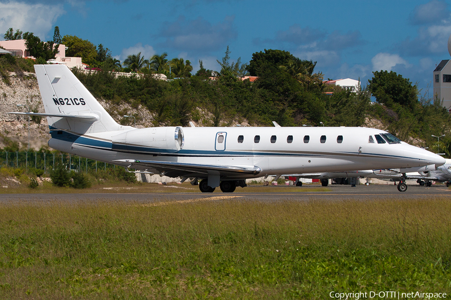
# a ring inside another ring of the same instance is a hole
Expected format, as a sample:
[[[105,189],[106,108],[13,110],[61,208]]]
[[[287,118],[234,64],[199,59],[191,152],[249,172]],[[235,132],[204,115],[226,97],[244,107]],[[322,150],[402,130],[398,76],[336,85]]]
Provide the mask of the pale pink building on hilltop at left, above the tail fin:
[[[30,57],[25,45],[26,39],[1,40],[0,46],[13,53],[17,57]],[[34,58],[34,57],[33,57]],[[62,63],[68,67],[85,68],[86,64],[82,63],[81,57],[66,57],[66,45],[60,44],[55,59],[50,59],[48,63]]]

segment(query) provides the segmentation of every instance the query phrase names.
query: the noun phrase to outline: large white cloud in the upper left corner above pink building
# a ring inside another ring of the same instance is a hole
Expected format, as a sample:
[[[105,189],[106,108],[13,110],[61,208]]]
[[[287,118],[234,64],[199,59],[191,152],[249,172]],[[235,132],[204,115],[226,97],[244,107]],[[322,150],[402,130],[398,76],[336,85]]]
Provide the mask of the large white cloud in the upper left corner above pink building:
[[[53,36],[46,36],[60,15],[65,14],[62,4],[26,4],[10,1],[0,2],[0,39],[3,34],[13,28],[23,32],[33,32],[41,40],[48,40]],[[53,31],[52,31],[53,32]]]

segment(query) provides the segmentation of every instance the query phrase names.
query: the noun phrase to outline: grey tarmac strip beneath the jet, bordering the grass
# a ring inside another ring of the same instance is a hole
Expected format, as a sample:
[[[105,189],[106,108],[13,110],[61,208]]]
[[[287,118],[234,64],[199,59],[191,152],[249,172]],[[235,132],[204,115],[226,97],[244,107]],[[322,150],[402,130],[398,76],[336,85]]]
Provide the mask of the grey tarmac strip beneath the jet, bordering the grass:
[[[451,199],[451,189],[444,184],[436,184],[430,187],[420,185],[408,185],[405,192],[400,192],[395,185],[364,184],[351,187],[350,185],[329,185],[328,191],[313,191],[315,186],[303,186],[303,191],[288,191],[286,186],[262,186],[262,192],[246,192],[246,187],[237,187],[233,193],[223,193],[216,188],[213,193],[202,192],[160,192],[160,193],[22,193],[22,194],[0,194],[0,203],[42,203],[42,202],[68,202],[77,203],[79,201],[138,201],[142,203],[159,202],[196,202],[196,201],[221,201],[226,199],[236,200],[259,200],[259,201],[279,201],[279,200],[371,200],[371,199],[418,199],[431,197],[449,197]],[[265,191],[267,189],[267,191]],[[312,191],[309,191],[312,189]],[[285,191],[284,191],[285,190]]]

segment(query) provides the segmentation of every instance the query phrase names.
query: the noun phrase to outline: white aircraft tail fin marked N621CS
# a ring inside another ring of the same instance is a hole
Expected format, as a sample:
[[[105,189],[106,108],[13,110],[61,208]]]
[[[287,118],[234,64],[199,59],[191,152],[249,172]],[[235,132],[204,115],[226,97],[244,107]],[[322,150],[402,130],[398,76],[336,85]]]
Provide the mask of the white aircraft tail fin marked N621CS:
[[[66,65],[36,64],[35,71],[51,129],[84,134],[130,128],[118,124]]]

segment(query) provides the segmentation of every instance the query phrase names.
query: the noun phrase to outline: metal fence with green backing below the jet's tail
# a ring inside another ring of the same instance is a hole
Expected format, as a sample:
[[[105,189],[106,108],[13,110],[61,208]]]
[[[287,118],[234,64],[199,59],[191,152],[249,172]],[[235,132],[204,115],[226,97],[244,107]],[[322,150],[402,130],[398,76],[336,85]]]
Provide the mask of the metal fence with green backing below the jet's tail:
[[[50,169],[55,168],[55,165],[58,163],[65,165],[67,169],[86,173],[88,173],[88,171],[97,172],[98,170],[107,170],[116,167],[116,165],[111,163],[100,162],[94,159],[61,152],[3,151],[0,152],[0,161],[2,166],[20,167],[27,170],[34,167],[43,169],[44,172],[48,172]]]

